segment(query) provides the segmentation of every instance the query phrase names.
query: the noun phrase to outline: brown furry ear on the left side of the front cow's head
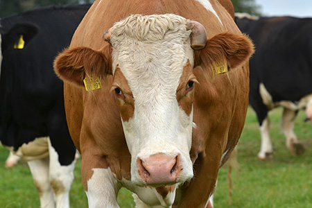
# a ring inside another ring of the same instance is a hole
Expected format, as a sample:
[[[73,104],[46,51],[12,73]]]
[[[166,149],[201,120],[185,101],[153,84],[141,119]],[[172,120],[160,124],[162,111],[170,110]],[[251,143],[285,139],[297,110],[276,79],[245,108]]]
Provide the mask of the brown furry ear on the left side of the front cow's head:
[[[66,83],[83,87],[85,76],[105,79],[110,67],[101,51],[87,47],[65,49],[54,61],[54,70]]]

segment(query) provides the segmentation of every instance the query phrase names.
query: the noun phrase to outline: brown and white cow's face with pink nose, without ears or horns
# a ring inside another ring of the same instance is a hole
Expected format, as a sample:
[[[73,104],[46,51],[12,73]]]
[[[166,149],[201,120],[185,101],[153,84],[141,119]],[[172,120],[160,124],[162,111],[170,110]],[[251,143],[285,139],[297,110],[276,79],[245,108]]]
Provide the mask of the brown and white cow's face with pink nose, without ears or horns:
[[[190,33],[186,19],[175,15],[134,15],[112,29],[112,89],[137,184],[171,184],[193,176],[196,78]]]

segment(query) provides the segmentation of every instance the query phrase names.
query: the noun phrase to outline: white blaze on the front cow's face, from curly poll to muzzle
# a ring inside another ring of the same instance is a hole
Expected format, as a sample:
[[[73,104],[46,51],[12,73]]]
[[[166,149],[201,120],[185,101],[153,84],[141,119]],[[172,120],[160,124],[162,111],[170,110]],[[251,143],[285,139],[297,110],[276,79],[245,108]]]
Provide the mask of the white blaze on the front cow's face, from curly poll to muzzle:
[[[189,157],[193,116],[179,107],[176,98],[187,60],[193,65],[190,33],[186,19],[177,15],[133,15],[112,31],[113,66],[127,80],[135,105],[133,116],[123,121],[134,182],[141,181],[137,159],[158,153],[180,155],[180,179],[193,176]]]

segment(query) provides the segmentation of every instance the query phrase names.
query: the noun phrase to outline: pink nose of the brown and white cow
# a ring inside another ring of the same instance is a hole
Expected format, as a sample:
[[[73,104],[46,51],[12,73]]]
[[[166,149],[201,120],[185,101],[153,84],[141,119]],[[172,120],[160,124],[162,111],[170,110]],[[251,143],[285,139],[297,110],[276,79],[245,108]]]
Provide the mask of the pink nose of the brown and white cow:
[[[151,155],[147,159],[137,159],[138,172],[149,185],[174,184],[182,166],[180,155],[169,157],[163,153]]]

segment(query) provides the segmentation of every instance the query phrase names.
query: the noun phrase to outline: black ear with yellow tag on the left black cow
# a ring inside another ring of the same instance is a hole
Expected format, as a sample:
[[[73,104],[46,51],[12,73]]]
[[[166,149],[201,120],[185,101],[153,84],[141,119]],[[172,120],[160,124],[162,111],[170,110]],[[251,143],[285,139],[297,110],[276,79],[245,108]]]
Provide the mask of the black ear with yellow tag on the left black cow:
[[[34,24],[15,24],[7,33],[2,35],[2,49],[8,49],[9,47],[12,49],[24,49],[33,37],[37,35],[38,31],[39,29]]]

